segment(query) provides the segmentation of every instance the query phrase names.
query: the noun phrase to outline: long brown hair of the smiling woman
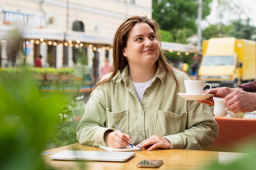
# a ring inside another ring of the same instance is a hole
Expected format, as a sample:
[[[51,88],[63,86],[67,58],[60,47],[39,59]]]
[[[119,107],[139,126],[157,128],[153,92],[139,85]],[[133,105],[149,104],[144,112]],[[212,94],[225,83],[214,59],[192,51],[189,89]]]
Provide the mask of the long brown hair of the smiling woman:
[[[99,86],[100,84],[103,84],[104,82],[107,82],[110,79],[112,79],[113,77],[115,77],[117,72],[119,70],[124,69],[124,67],[128,64],[128,62],[126,60],[126,57],[124,57],[124,55],[123,55],[123,49],[127,45],[128,33],[129,33],[130,29],[135,24],[141,23],[141,22],[144,22],[144,23],[148,24],[153,29],[153,31],[156,35],[156,39],[159,42],[159,51],[160,51],[160,53],[159,53],[159,58],[157,59],[157,63],[163,68],[166,75],[170,74],[175,79],[175,82],[177,84],[177,79],[176,79],[176,77],[174,75],[174,72],[173,72],[174,67],[170,66],[170,64],[167,62],[166,57],[164,56],[164,52],[163,52],[162,47],[161,47],[161,36],[160,36],[160,33],[159,33],[159,30],[160,30],[159,24],[153,19],[148,19],[147,16],[137,16],[137,15],[135,15],[135,16],[131,16],[128,19],[126,19],[119,26],[119,28],[117,29],[117,32],[115,33],[114,41],[113,41],[113,44],[112,44],[113,64],[112,64],[112,67],[111,67],[111,70],[110,70],[110,72],[112,72],[112,75],[110,77],[104,79],[103,81],[100,81],[97,84],[95,84],[92,91],[94,91],[97,88],[97,86]]]

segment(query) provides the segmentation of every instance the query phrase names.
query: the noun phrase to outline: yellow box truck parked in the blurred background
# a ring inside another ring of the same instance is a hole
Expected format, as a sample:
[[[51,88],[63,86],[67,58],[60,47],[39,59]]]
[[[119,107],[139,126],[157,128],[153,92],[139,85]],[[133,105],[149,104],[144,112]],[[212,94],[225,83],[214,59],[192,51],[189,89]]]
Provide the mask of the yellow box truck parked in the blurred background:
[[[204,80],[213,87],[237,87],[255,79],[255,41],[236,38],[203,40],[198,80]]]

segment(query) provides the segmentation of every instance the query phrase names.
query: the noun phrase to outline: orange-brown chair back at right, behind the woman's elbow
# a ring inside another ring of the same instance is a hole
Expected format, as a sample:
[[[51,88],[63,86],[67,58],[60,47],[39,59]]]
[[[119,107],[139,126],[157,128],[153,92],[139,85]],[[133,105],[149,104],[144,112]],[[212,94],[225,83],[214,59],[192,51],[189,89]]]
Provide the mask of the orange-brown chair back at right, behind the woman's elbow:
[[[219,135],[209,150],[239,152],[240,147],[256,141],[256,119],[214,118],[219,126]]]

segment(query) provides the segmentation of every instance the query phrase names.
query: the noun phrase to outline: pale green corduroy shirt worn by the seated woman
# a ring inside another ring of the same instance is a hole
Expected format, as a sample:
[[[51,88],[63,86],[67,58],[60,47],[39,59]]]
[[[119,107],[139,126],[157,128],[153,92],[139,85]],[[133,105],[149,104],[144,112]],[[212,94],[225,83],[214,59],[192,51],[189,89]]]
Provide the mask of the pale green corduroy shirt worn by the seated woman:
[[[152,135],[165,137],[173,149],[207,150],[213,144],[218,125],[209,106],[177,95],[186,93],[186,74],[174,69],[177,86],[158,67],[140,103],[128,73],[127,65],[93,91],[76,130],[80,144],[107,146],[104,133],[116,130],[114,123],[130,135],[133,145]]]

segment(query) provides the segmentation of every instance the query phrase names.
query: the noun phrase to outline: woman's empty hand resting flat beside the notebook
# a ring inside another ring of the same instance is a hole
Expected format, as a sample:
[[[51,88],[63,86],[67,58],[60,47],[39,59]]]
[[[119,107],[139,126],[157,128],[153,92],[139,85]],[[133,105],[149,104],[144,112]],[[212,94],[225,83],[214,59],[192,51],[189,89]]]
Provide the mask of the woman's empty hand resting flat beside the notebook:
[[[153,135],[137,145],[139,148],[147,148],[148,146],[150,146],[148,150],[153,150],[156,148],[170,149],[171,142],[164,137]]]

